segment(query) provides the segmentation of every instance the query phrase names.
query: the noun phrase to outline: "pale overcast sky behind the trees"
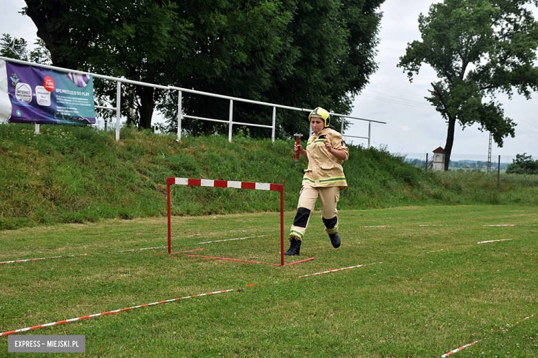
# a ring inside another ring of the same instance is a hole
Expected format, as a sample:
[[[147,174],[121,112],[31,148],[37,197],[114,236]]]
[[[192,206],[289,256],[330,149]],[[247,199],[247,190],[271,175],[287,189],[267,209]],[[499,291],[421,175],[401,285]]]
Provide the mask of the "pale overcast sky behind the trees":
[[[436,1],[437,2],[437,1]],[[37,39],[34,23],[18,12],[25,6],[23,0],[0,0],[0,34],[26,39],[30,44]],[[430,153],[446,142],[446,123],[424,99],[428,96],[430,83],[437,77],[428,65],[423,65],[413,83],[396,67],[399,57],[406,52],[407,43],[420,39],[418,17],[428,13],[431,0],[398,1],[386,0],[381,6],[381,40],[376,57],[379,70],[370,77],[370,85],[355,98],[351,116],[386,122],[372,123],[371,143],[374,147],[387,146],[392,153]],[[535,16],[538,12],[535,11]],[[508,100],[499,95],[497,100],[504,105],[505,114],[517,123],[515,138],[506,138],[504,147],[492,145],[492,156],[515,156],[532,154],[538,156],[538,94],[530,101],[517,93]],[[354,124],[344,134],[368,136],[368,123],[352,121]],[[454,155],[488,155],[489,134],[477,126],[462,130],[457,125]],[[347,138],[355,144],[366,145],[366,140]]]

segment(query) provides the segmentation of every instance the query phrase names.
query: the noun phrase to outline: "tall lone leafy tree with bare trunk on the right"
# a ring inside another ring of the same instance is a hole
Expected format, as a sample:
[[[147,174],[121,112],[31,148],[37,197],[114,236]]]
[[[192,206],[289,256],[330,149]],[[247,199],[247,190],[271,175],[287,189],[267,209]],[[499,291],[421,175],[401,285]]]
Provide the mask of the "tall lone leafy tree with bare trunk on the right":
[[[408,43],[398,67],[412,82],[423,63],[439,81],[425,97],[448,123],[444,150],[448,169],[456,122],[489,131],[502,147],[515,136],[515,123],[504,116],[495,94],[512,98],[513,89],[530,99],[538,89],[538,23],[527,10],[537,0],[446,0],[420,14],[421,41]]]

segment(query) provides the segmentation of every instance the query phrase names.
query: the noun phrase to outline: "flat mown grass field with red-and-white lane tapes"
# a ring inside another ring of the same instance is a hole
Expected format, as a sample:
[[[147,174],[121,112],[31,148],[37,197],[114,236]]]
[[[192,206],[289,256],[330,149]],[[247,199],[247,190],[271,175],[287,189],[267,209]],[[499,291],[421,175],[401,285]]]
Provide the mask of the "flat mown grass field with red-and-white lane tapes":
[[[479,340],[451,357],[538,357],[537,214],[340,211],[333,249],[315,212],[286,262],[315,260],[284,267],[146,249],[166,245],[166,218],[1,231],[0,262],[63,257],[0,264],[0,332],[230,289],[19,335],[86,336],[85,355],[54,357],[441,357]],[[269,236],[215,242],[257,235]],[[477,244],[490,240],[505,241]],[[172,245],[278,263],[279,213],[175,217]],[[8,337],[0,357],[13,356]],[[32,356],[47,354],[17,355]]]

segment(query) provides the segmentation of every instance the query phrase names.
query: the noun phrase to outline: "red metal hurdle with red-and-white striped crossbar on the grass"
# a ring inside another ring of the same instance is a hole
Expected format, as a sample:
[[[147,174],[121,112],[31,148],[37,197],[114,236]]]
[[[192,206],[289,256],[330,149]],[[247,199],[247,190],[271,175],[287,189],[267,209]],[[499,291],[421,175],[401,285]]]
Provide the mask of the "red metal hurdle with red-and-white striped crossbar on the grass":
[[[284,266],[284,185],[283,184],[271,184],[267,182],[236,182],[232,180],[167,178],[166,187],[168,189],[168,253],[171,252],[170,247],[172,246],[172,229],[171,229],[172,224],[171,224],[171,218],[170,218],[170,185],[192,185],[196,187],[217,187],[217,188],[278,191],[280,193],[280,266]],[[228,259],[221,259],[221,260],[228,260]],[[237,260],[237,261],[241,261],[241,260]]]

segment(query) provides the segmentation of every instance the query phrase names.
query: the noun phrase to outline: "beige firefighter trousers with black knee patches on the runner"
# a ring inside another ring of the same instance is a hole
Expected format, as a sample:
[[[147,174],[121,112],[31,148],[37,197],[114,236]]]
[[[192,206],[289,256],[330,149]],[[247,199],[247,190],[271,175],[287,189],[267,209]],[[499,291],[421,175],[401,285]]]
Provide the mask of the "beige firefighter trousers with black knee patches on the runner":
[[[308,187],[304,186],[299,194],[297,215],[290,230],[290,236],[302,240],[310,221],[310,213],[314,210],[317,198],[321,201],[321,216],[327,233],[338,230],[337,203],[340,198],[339,187]]]

